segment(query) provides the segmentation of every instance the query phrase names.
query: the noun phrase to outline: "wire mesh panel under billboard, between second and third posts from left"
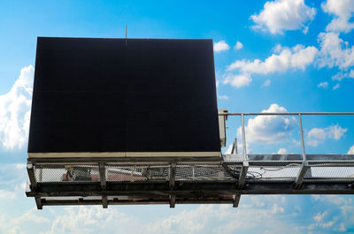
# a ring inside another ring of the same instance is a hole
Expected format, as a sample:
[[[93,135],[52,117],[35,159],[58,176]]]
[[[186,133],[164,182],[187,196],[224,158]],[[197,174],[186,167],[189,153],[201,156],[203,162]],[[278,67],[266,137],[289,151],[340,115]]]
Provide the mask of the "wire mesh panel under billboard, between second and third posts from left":
[[[169,165],[106,166],[107,181],[165,181],[169,180]]]

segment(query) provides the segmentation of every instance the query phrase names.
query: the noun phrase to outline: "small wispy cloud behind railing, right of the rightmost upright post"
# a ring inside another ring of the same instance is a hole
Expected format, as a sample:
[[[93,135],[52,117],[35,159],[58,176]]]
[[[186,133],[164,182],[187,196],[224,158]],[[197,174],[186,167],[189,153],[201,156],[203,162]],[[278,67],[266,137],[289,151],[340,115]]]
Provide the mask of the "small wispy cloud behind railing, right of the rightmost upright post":
[[[347,132],[347,129],[342,128],[338,124],[326,128],[312,128],[307,132],[308,140],[306,143],[312,147],[316,147],[327,139],[340,140],[345,132]]]

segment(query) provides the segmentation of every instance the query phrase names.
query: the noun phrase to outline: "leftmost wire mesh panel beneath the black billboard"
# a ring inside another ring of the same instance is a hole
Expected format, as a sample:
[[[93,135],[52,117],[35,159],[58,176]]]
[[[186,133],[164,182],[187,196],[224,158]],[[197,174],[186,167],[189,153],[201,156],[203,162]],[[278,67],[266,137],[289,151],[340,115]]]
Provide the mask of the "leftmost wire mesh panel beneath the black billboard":
[[[97,165],[35,165],[35,180],[45,182],[99,181]]]

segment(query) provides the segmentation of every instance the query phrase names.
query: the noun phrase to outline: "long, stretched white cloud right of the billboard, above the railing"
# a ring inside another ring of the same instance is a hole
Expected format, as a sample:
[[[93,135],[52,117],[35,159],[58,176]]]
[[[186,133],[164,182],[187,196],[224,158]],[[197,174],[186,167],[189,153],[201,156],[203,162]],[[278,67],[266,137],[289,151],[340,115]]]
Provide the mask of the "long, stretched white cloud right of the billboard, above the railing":
[[[318,49],[309,46],[296,45],[293,48],[281,47],[278,45],[274,49],[274,54],[267,57],[265,61],[260,59],[236,60],[227,66],[227,72],[238,71],[238,74],[229,73],[224,77],[224,84],[231,84],[234,87],[250,85],[251,74],[269,74],[273,72],[286,72],[289,69],[304,70],[306,66],[312,64],[318,53]]]

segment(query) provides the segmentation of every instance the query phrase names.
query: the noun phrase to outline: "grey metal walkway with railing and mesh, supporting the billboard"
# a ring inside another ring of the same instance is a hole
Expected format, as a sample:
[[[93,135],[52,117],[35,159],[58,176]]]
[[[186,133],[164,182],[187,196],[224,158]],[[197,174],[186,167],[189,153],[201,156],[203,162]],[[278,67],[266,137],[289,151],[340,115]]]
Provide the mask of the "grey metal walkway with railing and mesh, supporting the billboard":
[[[307,155],[302,115],[354,113],[227,113],[242,120],[242,154],[220,158],[28,159],[27,197],[56,205],[229,203],[242,194],[354,194],[354,155]],[[247,154],[246,115],[296,115],[303,154]]]

